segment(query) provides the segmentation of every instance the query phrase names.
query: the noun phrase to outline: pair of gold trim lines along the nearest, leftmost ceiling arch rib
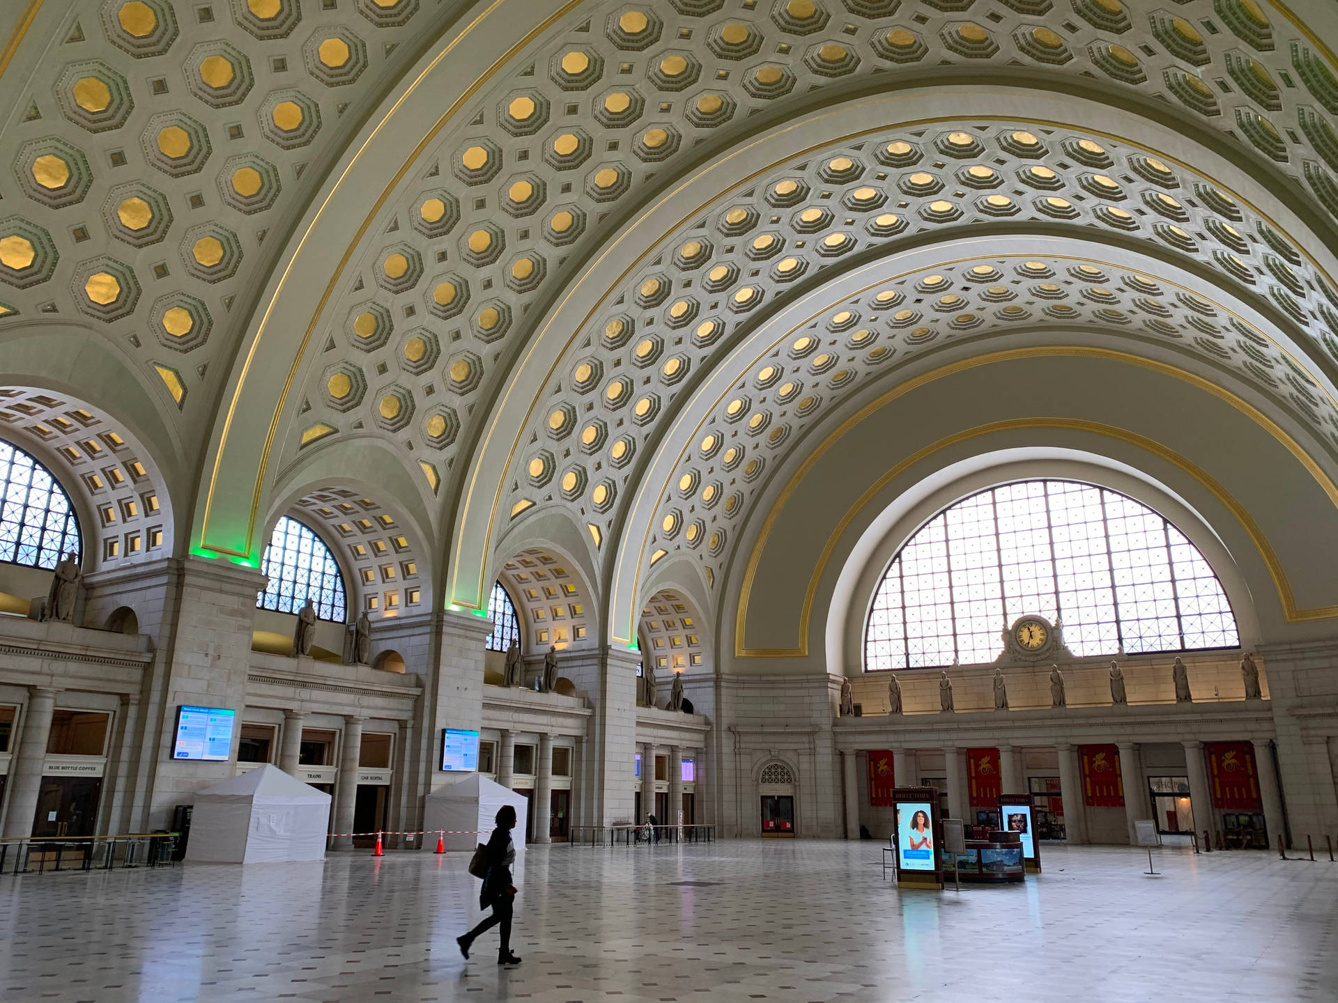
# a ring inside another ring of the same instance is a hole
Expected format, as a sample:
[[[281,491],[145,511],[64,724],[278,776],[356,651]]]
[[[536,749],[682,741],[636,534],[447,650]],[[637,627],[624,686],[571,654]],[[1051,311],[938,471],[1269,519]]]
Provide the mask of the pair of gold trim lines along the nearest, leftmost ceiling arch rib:
[[[250,349],[246,352],[246,358],[242,362],[242,372],[241,377],[237,381],[237,388],[233,392],[233,397],[227,405],[227,415],[223,419],[223,431],[222,435],[219,436],[218,451],[214,456],[214,467],[209,479],[209,491],[205,496],[205,512],[199,526],[199,542],[202,547],[217,551],[219,554],[238,554],[238,551],[226,547],[214,547],[209,543],[209,518],[210,514],[213,512],[214,491],[218,485],[219,468],[222,467],[223,461],[223,449],[227,444],[227,436],[231,431],[233,417],[237,412],[237,405],[242,395],[242,388],[246,385],[246,374],[250,372],[252,364],[256,361],[256,354],[260,349],[261,340],[264,338],[266,329],[269,326],[269,318],[273,314],[276,305],[278,304],[280,296],[284,293],[284,286],[288,284],[288,277],[292,273],[293,266],[297,263],[297,258],[301,255],[302,249],[306,246],[306,242],[312,238],[312,231],[321,221],[321,217],[325,215],[325,210],[329,209],[330,203],[334,199],[334,195],[339,194],[340,186],[344,183],[345,178],[348,178],[355,164],[357,164],[357,162],[361,159],[363,154],[367,152],[368,147],[372,144],[372,140],[375,140],[376,136],[380,135],[381,130],[385,127],[385,123],[391,120],[395,112],[397,112],[400,107],[409,99],[409,96],[419,88],[419,86],[427,79],[428,74],[436,70],[436,67],[442,63],[442,60],[446,59],[452,51],[455,51],[455,48],[460,45],[460,43],[466,39],[466,36],[468,36],[482,21],[490,17],[492,12],[496,11],[504,3],[506,0],[494,0],[492,4],[486,11],[479,13],[478,17],[470,21],[470,24],[466,25],[466,28],[459,35],[451,39],[451,41],[442,48],[442,51],[432,59],[432,62],[428,63],[423,68],[423,71],[413,79],[413,83],[409,84],[408,88],[405,88],[404,94],[401,94],[399,99],[396,99],[395,104],[391,106],[391,110],[387,111],[385,115],[381,118],[381,120],[376,123],[376,128],[373,128],[368,134],[367,140],[363,143],[363,146],[359,147],[357,152],[348,162],[348,166],[340,173],[339,181],[336,181],[334,185],[330,187],[329,194],[321,202],[321,206],[316,211],[316,215],[312,217],[310,225],[306,227],[306,231],[298,241],[297,249],[289,258],[288,265],[284,267],[284,274],[280,277],[278,285],[274,288],[274,294],[270,297],[269,304],[265,306],[265,313],[261,317],[260,328],[257,328],[256,337],[252,340]],[[302,340],[297,346],[296,354],[293,356],[293,364],[288,370],[288,378],[284,381],[284,389],[280,393],[280,399],[274,405],[274,413],[273,417],[270,419],[269,431],[265,436],[265,447],[264,451],[261,452],[261,460],[256,471],[256,487],[252,492],[250,518],[246,528],[248,548],[250,547],[250,538],[256,530],[256,515],[260,510],[260,499],[265,483],[265,468],[269,465],[269,453],[274,447],[274,437],[278,435],[278,423],[284,411],[284,404],[288,401],[288,395],[293,388],[293,381],[297,378],[297,370],[301,366],[302,356],[306,352],[306,345],[310,342],[312,334],[316,330],[316,325],[320,322],[321,314],[325,312],[325,305],[334,294],[334,288],[339,285],[339,281],[344,274],[344,269],[348,266],[349,259],[353,257],[353,251],[357,249],[359,242],[371,229],[373,217],[381,210],[381,207],[389,199],[391,193],[404,179],[404,175],[409,173],[409,169],[413,166],[415,160],[423,154],[423,151],[432,142],[432,139],[435,139],[436,135],[443,128],[446,128],[446,124],[451,120],[455,112],[458,112],[464,106],[464,103],[470,100],[483,87],[483,84],[486,84],[490,79],[492,79],[492,76],[496,75],[496,72],[502,70],[502,67],[504,67],[508,62],[511,62],[511,59],[518,52],[520,52],[520,49],[523,49],[526,45],[534,41],[534,39],[538,37],[543,31],[546,31],[550,25],[558,21],[565,13],[567,13],[570,9],[579,5],[581,3],[582,0],[569,0],[569,3],[563,4],[561,8],[554,11],[549,17],[546,17],[543,21],[535,25],[533,31],[530,31],[522,39],[516,40],[516,43],[511,45],[506,52],[503,52],[502,56],[494,60],[492,64],[488,66],[488,68],[483,71],[483,74],[480,74],[474,80],[474,83],[466,87],[460,92],[460,95],[447,107],[447,110],[442,114],[442,116],[436,120],[436,123],[424,134],[423,139],[420,139],[419,143],[409,151],[408,156],[400,164],[399,170],[385,185],[385,187],[381,190],[381,194],[377,197],[376,202],[372,203],[372,207],[363,218],[361,225],[353,234],[353,239],[349,241],[348,246],[344,249],[343,257],[340,257],[339,263],[330,273],[330,280],[326,284],[325,292],[321,294],[320,301],[316,304],[316,309],[312,312],[312,320],[306,325],[306,330],[302,333]],[[241,556],[250,556],[250,555],[241,554]]]

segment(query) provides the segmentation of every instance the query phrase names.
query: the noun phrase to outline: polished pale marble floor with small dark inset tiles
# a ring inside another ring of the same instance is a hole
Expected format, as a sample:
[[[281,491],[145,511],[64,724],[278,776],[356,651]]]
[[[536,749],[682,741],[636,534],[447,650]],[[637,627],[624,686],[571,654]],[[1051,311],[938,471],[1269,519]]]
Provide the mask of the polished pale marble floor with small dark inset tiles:
[[[871,843],[524,855],[512,950],[463,962],[463,855],[0,877],[0,999],[1338,999],[1338,864],[1046,848],[1025,887],[898,892]],[[471,901],[472,900],[472,901]]]

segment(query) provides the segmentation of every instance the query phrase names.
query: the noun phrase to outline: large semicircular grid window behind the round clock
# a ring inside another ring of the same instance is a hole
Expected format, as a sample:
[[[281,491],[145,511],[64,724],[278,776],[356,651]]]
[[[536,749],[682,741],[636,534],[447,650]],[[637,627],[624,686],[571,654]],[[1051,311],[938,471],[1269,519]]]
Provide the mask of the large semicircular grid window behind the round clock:
[[[1239,645],[1222,583],[1169,520],[1107,488],[1028,480],[906,542],[874,595],[864,669],[993,662],[1026,614],[1060,622],[1080,658]]]

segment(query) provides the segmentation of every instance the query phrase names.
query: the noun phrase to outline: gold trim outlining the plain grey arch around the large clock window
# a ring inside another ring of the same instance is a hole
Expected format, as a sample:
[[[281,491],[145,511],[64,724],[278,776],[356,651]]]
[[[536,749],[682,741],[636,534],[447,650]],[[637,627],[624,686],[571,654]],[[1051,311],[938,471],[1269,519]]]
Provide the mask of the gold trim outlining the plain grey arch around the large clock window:
[[[814,568],[814,574],[809,576],[808,587],[804,591],[804,604],[800,611],[799,619],[799,647],[796,649],[749,649],[744,642],[744,630],[747,625],[748,604],[752,598],[752,584],[757,574],[757,564],[761,560],[763,548],[767,544],[767,539],[771,536],[771,531],[775,527],[777,519],[780,518],[781,510],[785,507],[785,502],[795,493],[799,488],[799,483],[808,475],[819,459],[823,457],[840,439],[846,436],[855,425],[862,423],[866,417],[871,416],[874,412],[880,411],[887,404],[892,403],[898,397],[909,393],[910,391],[925,386],[935,380],[946,376],[953,376],[967,369],[974,369],[982,365],[990,365],[994,362],[1009,362],[1020,358],[1044,358],[1044,357],[1080,357],[1080,358],[1100,358],[1104,361],[1125,362],[1128,365],[1136,365],[1144,369],[1151,369],[1163,376],[1169,376],[1176,380],[1181,380],[1200,391],[1206,391],[1219,400],[1230,404],[1231,407],[1240,411],[1243,415],[1250,417],[1255,424],[1268,432],[1274,439],[1276,439],[1294,457],[1297,457],[1302,467],[1318,481],[1319,487],[1329,496],[1329,500],[1338,508],[1338,485],[1329,479],[1329,476],[1319,469],[1318,464],[1310,459],[1309,455],[1301,448],[1301,445],[1288,436],[1272,419],[1260,412],[1248,401],[1238,397],[1222,386],[1218,386],[1208,380],[1204,380],[1193,373],[1177,369],[1165,362],[1155,361],[1151,358],[1141,358],[1139,356],[1129,354],[1127,352],[1116,352],[1115,349],[1104,348],[1090,348],[1090,346],[1061,346],[1061,348],[1020,348],[1020,349],[1006,349],[1002,352],[993,352],[987,356],[979,356],[977,358],[966,358],[959,362],[953,362],[950,365],[941,366],[933,372],[925,373],[914,380],[892,388],[887,393],[882,395],[876,400],[860,408],[858,412],[846,419],[836,429],[823,440],[823,443],[804,460],[803,465],[795,471],[793,476],[787,481],[780,496],[776,499],[771,511],[767,514],[767,520],[763,523],[761,532],[757,535],[753,548],[748,558],[748,566],[744,571],[743,588],[739,594],[739,607],[735,614],[735,655],[739,658],[795,658],[805,657],[808,654],[808,622],[812,617],[814,600],[818,594],[819,580],[823,571],[827,567],[827,562],[831,559],[832,551],[839,542],[840,535],[850,527],[850,523],[855,519],[859,511],[868,504],[874,493],[876,493],[882,487],[884,487],[894,477],[903,473],[915,463],[919,463],[925,457],[954,445],[959,441],[966,441],[979,435],[987,435],[990,432],[1009,431],[1014,428],[1070,428],[1076,431],[1096,432],[1098,435],[1105,435],[1112,439],[1120,439],[1121,441],[1137,445],[1140,448],[1152,452],[1161,459],[1172,463],[1173,465],[1183,469],[1189,476],[1195,477],[1200,484],[1203,484],[1212,495],[1222,502],[1222,504],[1240,522],[1250,539],[1254,542],[1255,547],[1259,550],[1259,555],[1263,558],[1264,564],[1268,566],[1268,574],[1272,576],[1274,586],[1278,590],[1278,598],[1282,603],[1283,617],[1288,623],[1301,623],[1305,621],[1329,619],[1331,617],[1338,617],[1338,604],[1335,606],[1319,606],[1307,610],[1297,607],[1295,594],[1291,588],[1291,582],[1287,579],[1287,574],[1278,560],[1276,554],[1264,538],[1263,531],[1259,530],[1258,523],[1246,511],[1246,508],[1236,502],[1230,492],[1222,484],[1212,479],[1206,471],[1195,465],[1192,461],[1173,452],[1172,449],[1161,445],[1160,443],[1148,439],[1147,436],[1140,436],[1136,432],[1127,432],[1124,429],[1115,428],[1113,425],[1103,425],[1096,421],[1084,421],[1080,419],[1014,419],[1010,421],[997,421],[989,425],[978,425],[974,429],[967,429],[966,432],[958,432],[954,436],[947,436],[941,439],[933,445],[925,447],[923,449],[913,453],[911,456],[902,460],[891,471],[884,473],[874,487],[864,492],[855,506],[846,514],[836,528],[832,531],[827,540],[827,546],[823,547],[823,552],[818,558],[818,564]],[[1026,423],[1044,423],[1044,424],[1026,424]]]

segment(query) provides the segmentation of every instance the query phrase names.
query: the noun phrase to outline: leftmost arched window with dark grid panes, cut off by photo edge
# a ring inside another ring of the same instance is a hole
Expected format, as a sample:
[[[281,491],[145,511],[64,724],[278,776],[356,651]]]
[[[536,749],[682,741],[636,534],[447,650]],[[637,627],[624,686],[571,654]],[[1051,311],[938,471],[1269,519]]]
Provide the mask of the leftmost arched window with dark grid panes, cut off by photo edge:
[[[82,554],[70,496],[51,471],[0,440],[0,560],[54,568],[63,554]]]

